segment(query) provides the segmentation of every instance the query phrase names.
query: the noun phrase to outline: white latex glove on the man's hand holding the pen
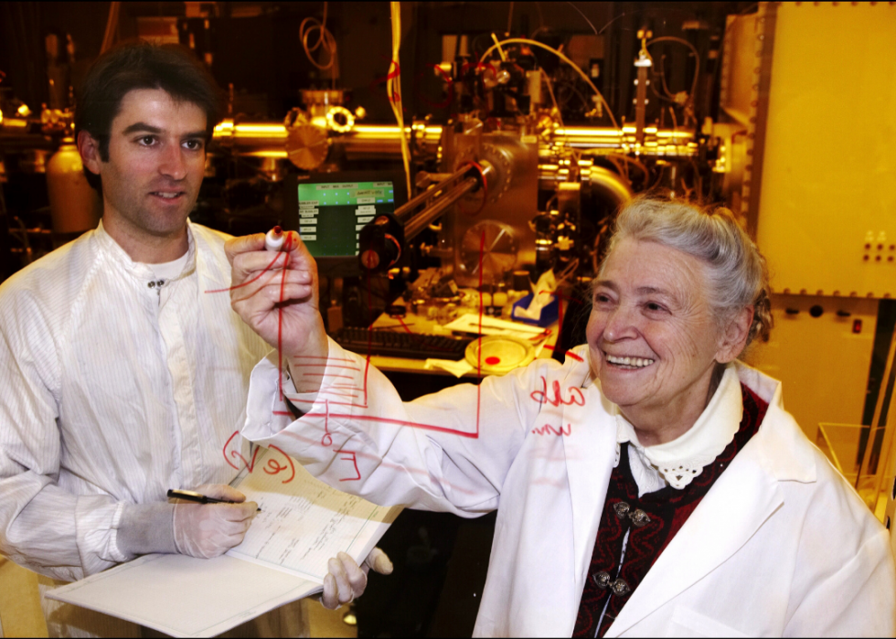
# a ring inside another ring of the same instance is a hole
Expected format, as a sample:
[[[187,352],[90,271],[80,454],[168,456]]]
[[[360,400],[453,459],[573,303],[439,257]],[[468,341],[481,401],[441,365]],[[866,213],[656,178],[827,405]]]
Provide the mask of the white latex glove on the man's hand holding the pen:
[[[195,489],[214,499],[234,504],[193,504],[176,501],[174,516],[177,552],[210,559],[237,546],[249,530],[258,504],[229,485],[202,485]]]

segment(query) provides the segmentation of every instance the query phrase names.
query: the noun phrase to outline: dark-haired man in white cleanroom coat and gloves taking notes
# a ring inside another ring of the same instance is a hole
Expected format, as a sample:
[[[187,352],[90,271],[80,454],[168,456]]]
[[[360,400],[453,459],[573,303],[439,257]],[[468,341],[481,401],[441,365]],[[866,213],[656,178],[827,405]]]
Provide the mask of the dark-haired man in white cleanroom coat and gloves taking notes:
[[[150,552],[215,557],[255,514],[227,484],[250,465],[238,431],[270,348],[208,293],[229,287],[226,236],[187,219],[217,122],[219,90],[188,53],[98,60],[76,133],[101,225],[0,286],[0,552],[55,580]],[[168,488],[237,503],[169,504]],[[378,551],[366,563],[391,570]],[[330,573],[328,607],[364,590],[347,555]],[[52,634],[139,630],[44,603]],[[304,634],[292,609],[240,633]]]

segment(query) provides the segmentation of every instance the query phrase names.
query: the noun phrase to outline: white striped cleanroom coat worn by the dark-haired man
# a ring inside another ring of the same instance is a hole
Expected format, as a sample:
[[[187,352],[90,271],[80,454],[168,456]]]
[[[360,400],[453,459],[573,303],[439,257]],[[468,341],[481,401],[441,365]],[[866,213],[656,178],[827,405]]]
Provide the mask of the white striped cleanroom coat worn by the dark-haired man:
[[[102,226],[0,286],[0,552],[16,563],[71,581],[133,559],[125,503],[228,484],[249,458],[237,431],[270,346],[228,293],[205,293],[229,287],[227,236],[188,231],[187,266],[161,289]],[[52,634],[123,632],[45,604]]]

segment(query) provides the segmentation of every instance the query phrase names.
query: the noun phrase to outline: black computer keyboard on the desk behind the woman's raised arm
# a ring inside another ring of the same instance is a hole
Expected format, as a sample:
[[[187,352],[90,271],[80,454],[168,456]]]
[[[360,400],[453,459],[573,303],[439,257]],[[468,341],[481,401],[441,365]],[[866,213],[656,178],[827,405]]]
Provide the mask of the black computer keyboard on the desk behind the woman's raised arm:
[[[407,357],[409,359],[464,358],[466,346],[474,337],[449,337],[446,335],[421,335],[418,333],[388,330],[368,331],[367,328],[344,326],[330,335],[336,344],[358,355]]]

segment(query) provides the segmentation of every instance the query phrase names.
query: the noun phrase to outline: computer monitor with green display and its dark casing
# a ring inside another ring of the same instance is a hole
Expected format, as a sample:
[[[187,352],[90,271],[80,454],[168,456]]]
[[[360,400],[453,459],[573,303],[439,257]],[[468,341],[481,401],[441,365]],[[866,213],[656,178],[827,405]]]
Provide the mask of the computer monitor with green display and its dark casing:
[[[284,224],[297,230],[327,275],[360,274],[358,235],[378,213],[407,201],[403,172],[345,171],[290,176]],[[404,197],[402,197],[404,196]]]

